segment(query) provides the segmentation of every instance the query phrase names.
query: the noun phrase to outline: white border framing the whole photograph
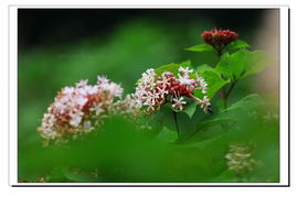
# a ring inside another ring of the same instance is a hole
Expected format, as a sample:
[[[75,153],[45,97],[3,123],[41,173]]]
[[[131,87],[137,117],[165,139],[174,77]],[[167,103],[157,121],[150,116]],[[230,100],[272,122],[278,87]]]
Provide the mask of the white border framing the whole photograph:
[[[279,9],[279,183],[18,183],[18,9]],[[9,6],[9,185],[12,187],[288,187],[289,139],[289,8],[268,7],[106,7],[106,6]],[[282,69],[280,69],[282,68]]]

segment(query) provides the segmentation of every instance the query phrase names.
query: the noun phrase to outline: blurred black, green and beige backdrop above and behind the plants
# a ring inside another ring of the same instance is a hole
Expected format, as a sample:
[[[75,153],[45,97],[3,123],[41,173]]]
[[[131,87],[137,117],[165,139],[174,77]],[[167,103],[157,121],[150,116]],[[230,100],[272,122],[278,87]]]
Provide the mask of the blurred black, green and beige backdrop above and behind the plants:
[[[209,53],[183,51],[202,43],[204,30],[230,29],[268,51],[276,65],[245,78],[231,102],[250,92],[278,99],[277,9],[19,9],[18,146],[20,179],[32,176],[29,157],[41,146],[36,128],[55,94],[79,79],[105,75],[125,94],[149,67],[190,59],[214,66]]]

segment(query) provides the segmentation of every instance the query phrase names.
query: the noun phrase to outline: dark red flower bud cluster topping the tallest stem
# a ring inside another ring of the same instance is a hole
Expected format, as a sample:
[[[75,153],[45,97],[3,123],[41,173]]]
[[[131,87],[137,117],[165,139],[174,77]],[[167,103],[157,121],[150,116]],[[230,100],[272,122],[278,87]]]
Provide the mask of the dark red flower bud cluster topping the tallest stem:
[[[230,30],[211,30],[201,34],[205,43],[214,47],[223,47],[238,37],[236,32]]]

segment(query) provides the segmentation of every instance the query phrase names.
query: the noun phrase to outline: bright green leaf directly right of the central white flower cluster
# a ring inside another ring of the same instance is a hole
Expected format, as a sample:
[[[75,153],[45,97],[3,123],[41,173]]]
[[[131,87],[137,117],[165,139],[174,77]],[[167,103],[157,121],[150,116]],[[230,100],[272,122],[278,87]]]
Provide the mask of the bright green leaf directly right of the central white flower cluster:
[[[221,89],[227,80],[222,79],[222,77],[215,70],[204,70],[200,74],[208,83],[208,94],[206,96],[211,99],[219,89]],[[202,98],[203,95],[201,90],[194,90],[194,95]]]

